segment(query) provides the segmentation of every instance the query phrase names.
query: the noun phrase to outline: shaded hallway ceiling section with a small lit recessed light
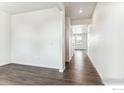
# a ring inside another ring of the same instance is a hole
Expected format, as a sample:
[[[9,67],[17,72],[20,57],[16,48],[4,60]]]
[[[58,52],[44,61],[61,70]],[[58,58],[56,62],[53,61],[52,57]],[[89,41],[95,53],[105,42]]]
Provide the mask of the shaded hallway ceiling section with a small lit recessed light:
[[[91,18],[94,12],[95,2],[68,2],[65,4],[66,17],[71,19]],[[83,10],[79,13],[79,10]]]

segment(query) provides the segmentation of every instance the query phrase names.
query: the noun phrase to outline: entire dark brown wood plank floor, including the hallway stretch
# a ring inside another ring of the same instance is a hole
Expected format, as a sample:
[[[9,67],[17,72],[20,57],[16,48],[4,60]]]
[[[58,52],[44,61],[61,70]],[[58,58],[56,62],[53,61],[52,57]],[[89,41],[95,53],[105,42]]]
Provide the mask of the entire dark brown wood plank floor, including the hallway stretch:
[[[76,51],[63,73],[57,69],[7,64],[0,67],[0,85],[103,85],[88,56]]]

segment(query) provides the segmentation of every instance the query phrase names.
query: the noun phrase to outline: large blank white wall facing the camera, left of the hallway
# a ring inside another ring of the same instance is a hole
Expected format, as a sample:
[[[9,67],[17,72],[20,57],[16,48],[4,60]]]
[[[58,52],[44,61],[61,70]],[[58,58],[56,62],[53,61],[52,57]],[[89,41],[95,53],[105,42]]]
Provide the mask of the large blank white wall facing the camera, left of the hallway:
[[[11,62],[60,69],[62,19],[57,8],[12,15]]]

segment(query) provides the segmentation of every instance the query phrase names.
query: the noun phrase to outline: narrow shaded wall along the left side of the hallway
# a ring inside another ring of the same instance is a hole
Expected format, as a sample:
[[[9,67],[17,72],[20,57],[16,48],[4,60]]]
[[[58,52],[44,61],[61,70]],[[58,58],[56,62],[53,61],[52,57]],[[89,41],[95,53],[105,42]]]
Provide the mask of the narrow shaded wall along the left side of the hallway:
[[[65,19],[65,61],[70,62],[72,58],[72,31],[71,31],[71,19],[66,17]]]

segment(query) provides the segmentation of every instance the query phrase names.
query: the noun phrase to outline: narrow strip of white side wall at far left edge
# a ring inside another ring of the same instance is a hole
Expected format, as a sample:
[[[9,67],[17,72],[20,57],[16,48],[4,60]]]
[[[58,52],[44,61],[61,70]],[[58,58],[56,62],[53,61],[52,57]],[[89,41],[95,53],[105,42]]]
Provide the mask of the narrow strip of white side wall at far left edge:
[[[10,15],[0,11],[0,66],[10,61]]]

